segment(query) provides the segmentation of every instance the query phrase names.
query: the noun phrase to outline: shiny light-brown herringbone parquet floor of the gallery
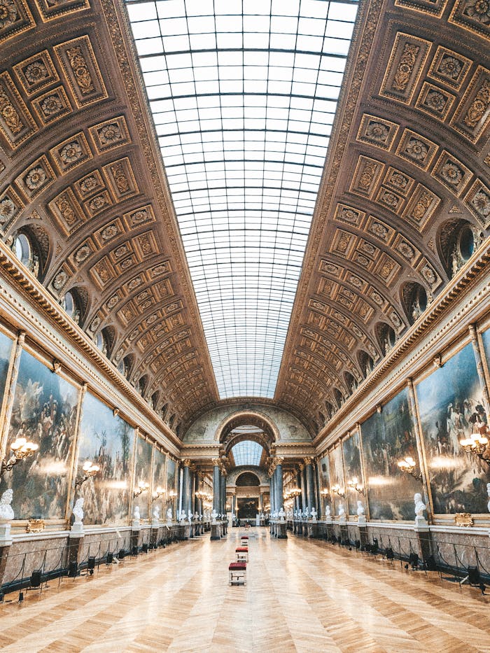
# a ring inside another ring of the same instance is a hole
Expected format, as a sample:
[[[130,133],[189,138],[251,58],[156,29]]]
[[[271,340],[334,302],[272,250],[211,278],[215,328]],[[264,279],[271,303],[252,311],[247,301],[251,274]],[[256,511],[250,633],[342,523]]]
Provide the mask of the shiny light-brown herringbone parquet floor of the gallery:
[[[254,530],[246,587],[228,586],[237,531],[206,535],[0,605],[0,650],[490,653],[477,589]]]

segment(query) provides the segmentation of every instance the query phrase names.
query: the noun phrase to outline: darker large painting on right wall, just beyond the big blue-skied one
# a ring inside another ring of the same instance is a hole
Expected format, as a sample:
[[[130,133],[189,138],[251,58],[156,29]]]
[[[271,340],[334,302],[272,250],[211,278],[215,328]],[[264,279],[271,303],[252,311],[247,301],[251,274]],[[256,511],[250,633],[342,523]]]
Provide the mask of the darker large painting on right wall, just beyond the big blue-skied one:
[[[407,388],[388,401],[381,413],[375,412],[361,424],[360,429],[370,519],[412,521],[414,493],[422,492],[422,485],[398,467],[398,461],[405,456],[419,460]]]

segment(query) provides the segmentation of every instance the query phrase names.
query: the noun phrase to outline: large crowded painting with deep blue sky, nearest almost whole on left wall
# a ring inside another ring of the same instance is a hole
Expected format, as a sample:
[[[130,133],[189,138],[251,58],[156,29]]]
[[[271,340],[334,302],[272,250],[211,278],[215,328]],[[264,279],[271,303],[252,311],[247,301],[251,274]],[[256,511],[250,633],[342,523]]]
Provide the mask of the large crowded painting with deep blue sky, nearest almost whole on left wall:
[[[39,449],[3,475],[0,492],[13,489],[15,519],[65,519],[78,393],[76,386],[22,351],[6,452],[18,437]]]

